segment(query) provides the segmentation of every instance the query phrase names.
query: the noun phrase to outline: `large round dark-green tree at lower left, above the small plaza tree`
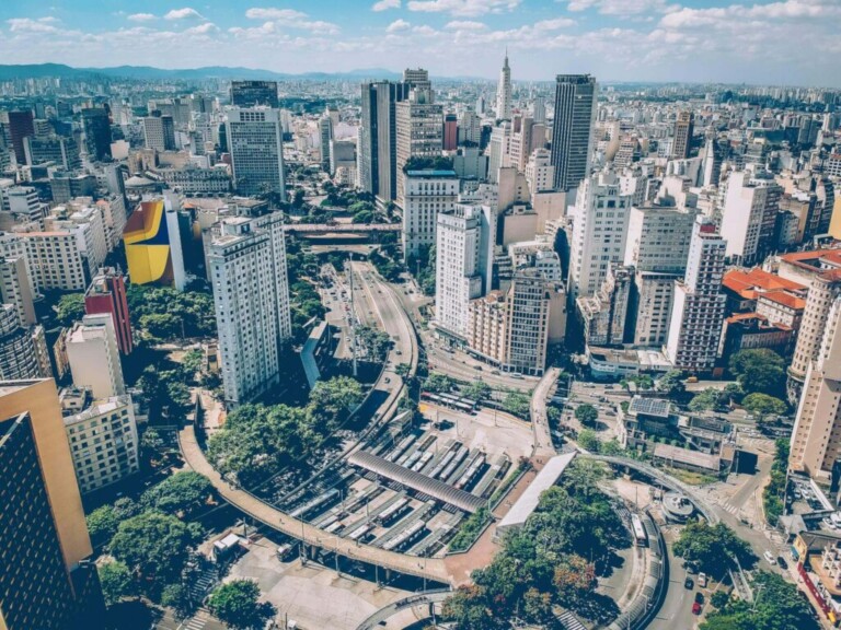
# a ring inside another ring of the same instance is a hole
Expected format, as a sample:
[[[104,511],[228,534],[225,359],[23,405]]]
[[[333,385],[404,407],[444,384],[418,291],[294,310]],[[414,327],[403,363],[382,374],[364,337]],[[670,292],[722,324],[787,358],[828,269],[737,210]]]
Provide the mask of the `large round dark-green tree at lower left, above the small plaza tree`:
[[[201,540],[197,523],[160,512],[124,521],[111,540],[111,553],[155,586],[178,581],[191,550]]]

